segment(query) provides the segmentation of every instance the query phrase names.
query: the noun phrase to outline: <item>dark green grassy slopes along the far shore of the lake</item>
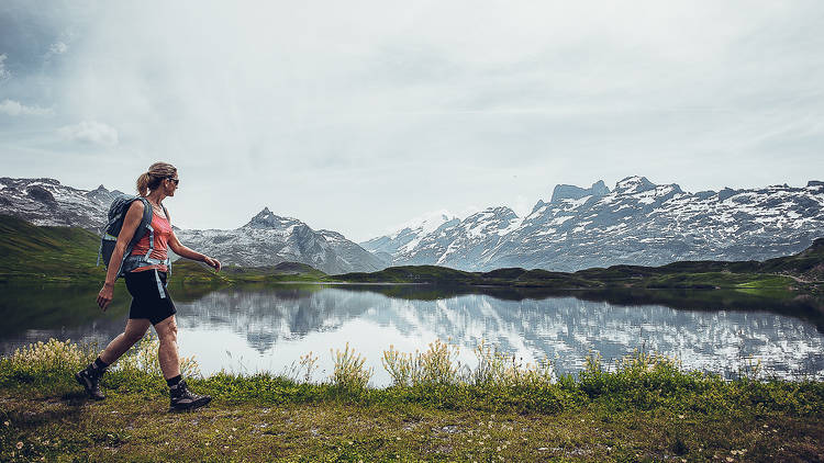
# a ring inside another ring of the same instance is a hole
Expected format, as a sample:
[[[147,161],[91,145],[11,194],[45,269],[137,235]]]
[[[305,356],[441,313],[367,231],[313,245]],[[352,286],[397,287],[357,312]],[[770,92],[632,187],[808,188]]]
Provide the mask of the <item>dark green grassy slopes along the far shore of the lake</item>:
[[[96,267],[99,238],[81,228],[46,227],[0,215],[0,283],[25,280],[100,282]],[[793,255],[758,261],[680,261],[660,267],[612,266],[577,272],[504,268],[469,272],[438,266],[390,267],[377,272],[329,275],[308,264],[243,268],[215,273],[202,264],[179,261],[172,274],[191,284],[277,284],[282,282],[426,283],[438,285],[543,287],[554,290],[693,289],[741,290],[770,298],[824,295],[824,238]]]

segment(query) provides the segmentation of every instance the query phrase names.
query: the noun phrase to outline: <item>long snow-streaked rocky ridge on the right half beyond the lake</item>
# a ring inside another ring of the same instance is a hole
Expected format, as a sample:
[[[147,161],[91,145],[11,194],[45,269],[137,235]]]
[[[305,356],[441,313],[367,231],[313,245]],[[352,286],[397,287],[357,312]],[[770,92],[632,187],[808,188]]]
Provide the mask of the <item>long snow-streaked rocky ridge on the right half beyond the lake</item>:
[[[824,182],[688,193],[676,183],[635,176],[613,190],[603,181],[589,189],[558,185],[548,203],[538,201],[523,218],[508,207],[490,207],[482,216],[417,237],[414,247],[383,251],[392,256],[392,266],[576,271],[620,263],[764,260],[799,252],[821,236]]]

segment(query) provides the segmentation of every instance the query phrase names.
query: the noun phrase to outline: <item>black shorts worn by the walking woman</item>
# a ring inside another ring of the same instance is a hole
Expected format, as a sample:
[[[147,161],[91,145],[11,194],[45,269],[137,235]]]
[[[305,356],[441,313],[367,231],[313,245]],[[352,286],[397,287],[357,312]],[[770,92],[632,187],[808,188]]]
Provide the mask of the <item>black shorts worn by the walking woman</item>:
[[[175,303],[166,291],[166,272],[129,272],[125,280],[129,294],[132,295],[129,318],[148,318],[152,325],[157,325],[177,313]]]

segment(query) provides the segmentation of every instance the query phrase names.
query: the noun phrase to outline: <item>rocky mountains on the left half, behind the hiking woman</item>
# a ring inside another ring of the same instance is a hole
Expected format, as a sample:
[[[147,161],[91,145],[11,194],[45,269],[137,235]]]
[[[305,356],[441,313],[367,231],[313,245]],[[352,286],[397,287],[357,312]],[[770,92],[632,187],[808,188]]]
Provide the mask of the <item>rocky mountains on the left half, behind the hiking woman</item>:
[[[104,225],[109,204],[120,191],[103,185],[85,191],[54,179],[0,178],[0,214],[34,225],[81,227],[96,234]],[[172,224],[174,225],[174,224]],[[280,217],[265,207],[246,225],[229,230],[179,229],[187,246],[219,259],[224,266],[276,266],[300,262],[326,273],[376,271],[383,261],[331,230],[313,230],[297,218]]]

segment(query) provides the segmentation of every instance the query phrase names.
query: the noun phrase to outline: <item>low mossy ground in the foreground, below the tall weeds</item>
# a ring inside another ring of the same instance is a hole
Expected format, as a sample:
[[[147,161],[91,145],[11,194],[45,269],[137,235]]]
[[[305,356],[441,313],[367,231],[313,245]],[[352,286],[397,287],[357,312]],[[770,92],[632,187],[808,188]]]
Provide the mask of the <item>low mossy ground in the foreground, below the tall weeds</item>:
[[[820,415],[757,407],[708,415],[593,402],[545,414],[218,397],[174,414],[160,393],[107,393],[93,403],[78,391],[0,392],[0,460],[824,461]]]

